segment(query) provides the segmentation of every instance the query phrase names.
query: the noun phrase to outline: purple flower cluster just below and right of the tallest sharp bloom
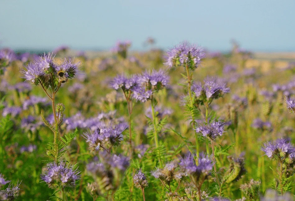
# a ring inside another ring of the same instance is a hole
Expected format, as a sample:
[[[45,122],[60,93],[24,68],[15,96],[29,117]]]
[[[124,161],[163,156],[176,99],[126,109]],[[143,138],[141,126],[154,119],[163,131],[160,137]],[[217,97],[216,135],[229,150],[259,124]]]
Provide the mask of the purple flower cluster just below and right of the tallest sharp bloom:
[[[207,77],[204,80],[204,86],[202,86],[201,82],[193,82],[191,91],[196,96],[196,102],[200,104],[206,101],[210,103],[213,99],[222,97],[229,92],[229,88],[226,87],[226,83],[216,77]]]

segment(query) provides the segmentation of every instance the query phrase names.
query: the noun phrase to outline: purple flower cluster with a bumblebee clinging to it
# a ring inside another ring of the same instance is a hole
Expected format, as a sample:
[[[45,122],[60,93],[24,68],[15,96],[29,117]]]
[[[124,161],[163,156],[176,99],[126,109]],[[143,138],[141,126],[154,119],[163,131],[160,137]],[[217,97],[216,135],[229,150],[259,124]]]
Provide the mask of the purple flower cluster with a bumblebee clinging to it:
[[[21,73],[24,74],[26,81],[34,85],[41,82],[44,85],[51,84],[51,78],[57,80],[59,83],[64,83],[68,78],[75,77],[78,72],[80,62],[74,63],[73,59],[64,60],[61,65],[54,63],[54,56],[52,53],[44,54],[38,60],[30,62]],[[53,77],[50,77],[53,76]]]

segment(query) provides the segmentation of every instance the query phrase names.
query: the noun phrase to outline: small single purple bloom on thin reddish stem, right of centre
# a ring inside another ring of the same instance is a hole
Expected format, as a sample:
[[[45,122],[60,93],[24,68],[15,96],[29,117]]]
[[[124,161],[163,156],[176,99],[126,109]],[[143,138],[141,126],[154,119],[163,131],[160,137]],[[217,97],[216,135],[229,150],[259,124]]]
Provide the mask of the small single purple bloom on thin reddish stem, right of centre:
[[[196,132],[202,133],[204,137],[209,137],[214,140],[217,136],[221,136],[224,133],[224,124],[221,121],[213,121],[210,124],[196,126]]]

